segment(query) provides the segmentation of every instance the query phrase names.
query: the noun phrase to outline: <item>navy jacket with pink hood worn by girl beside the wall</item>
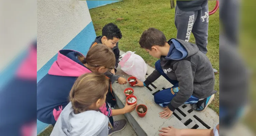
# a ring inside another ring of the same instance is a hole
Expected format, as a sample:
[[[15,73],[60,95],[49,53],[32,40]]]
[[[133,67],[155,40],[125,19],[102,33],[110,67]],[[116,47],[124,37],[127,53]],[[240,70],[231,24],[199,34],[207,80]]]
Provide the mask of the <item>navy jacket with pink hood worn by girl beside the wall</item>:
[[[77,59],[80,52],[60,50],[57,61],[53,63],[48,73],[37,84],[37,119],[47,124],[55,124],[61,111],[69,103],[69,92],[82,74],[91,71]],[[104,104],[101,112],[110,117],[111,108]]]

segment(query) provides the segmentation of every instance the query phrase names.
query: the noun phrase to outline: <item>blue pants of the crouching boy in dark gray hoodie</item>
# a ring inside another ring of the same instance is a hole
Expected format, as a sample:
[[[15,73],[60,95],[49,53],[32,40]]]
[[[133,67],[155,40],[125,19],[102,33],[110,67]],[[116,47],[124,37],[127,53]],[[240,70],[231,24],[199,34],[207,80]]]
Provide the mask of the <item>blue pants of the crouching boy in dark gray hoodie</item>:
[[[171,84],[173,84],[173,87],[163,89],[155,94],[154,100],[156,104],[159,104],[161,107],[166,107],[172,100],[172,98],[177,94],[177,92],[180,90],[179,88],[179,81],[177,80],[171,80],[164,72],[160,65],[160,60],[158,60],[155,63],[156,70],[165,77]],[[191,96],[184,104],[191,104],[191,103],[197,103],[198,98]]]

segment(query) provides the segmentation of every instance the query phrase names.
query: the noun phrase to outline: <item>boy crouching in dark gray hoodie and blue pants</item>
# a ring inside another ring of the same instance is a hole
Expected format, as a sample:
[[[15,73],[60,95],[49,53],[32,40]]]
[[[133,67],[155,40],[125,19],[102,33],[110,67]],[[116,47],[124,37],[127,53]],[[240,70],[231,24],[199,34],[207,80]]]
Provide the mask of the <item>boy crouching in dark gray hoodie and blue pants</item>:
[[[169,118],[183,103],[194,103],[192,107],[196,111],[203,111],[211,103],[216,93],[212,65],[195,44],[174,38],[167,41],[155,28],[144,31],[139,44],[160,60],[155,63],[153,73],[134,86],[148,86],[161,75],[174,85],[154,96],[155,102],[165,107],[160,117]]]

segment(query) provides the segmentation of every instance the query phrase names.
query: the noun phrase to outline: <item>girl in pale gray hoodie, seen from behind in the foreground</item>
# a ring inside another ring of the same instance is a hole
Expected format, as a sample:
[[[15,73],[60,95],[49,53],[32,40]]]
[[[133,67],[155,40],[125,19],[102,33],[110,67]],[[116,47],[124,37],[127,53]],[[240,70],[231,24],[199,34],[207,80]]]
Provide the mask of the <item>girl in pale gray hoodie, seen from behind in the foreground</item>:
[[[108,117],[99,112],[105,106],[109,79],[98,73],[81,75],[70,93],[51,136],[107,136]]]

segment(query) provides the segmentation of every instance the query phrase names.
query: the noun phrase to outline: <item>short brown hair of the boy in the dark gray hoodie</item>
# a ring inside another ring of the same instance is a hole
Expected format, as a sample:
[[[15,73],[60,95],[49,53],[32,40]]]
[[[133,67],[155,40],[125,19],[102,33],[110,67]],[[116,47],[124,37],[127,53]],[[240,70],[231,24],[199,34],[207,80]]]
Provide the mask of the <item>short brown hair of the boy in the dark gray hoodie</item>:
[[[139,41],[140,47],[148,50],[151,50],[154,45],[165,46],[166,43],[167,40],[163,32],[155,28],[145,30]]]

